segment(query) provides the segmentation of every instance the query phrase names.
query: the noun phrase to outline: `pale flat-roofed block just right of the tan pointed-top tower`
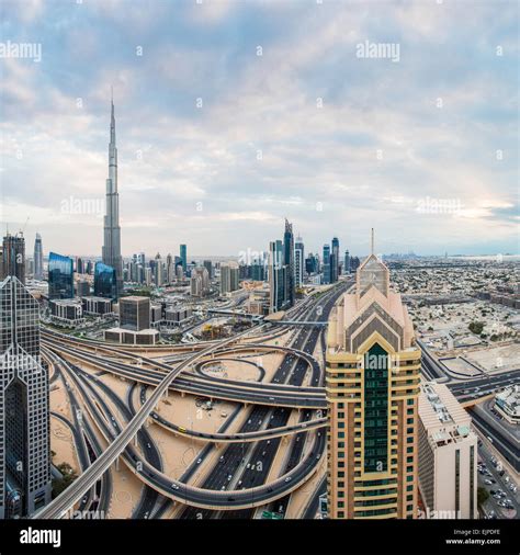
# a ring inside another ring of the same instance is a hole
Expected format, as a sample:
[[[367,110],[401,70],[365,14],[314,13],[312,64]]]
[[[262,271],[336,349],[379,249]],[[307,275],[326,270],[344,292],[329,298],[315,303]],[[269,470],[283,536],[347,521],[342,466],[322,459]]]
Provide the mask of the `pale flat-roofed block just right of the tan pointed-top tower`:
[[[419,490],[426,518],[476,519],[477,437],[472,418],[444,384],[419,396]]]

